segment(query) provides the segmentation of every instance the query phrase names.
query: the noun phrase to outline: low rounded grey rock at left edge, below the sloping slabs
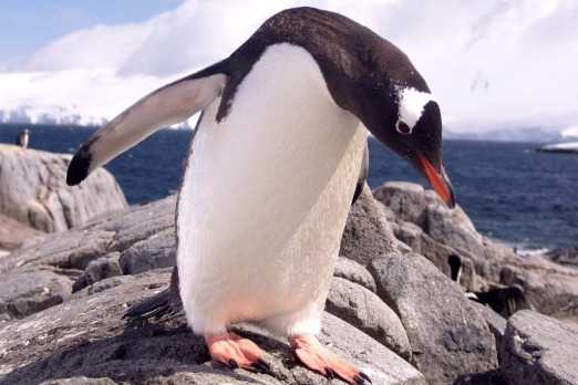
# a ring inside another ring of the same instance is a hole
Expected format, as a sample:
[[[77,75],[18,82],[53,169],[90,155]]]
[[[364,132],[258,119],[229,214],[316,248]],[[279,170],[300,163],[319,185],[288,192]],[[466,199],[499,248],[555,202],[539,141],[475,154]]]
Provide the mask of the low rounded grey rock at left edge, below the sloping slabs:
[[[50,270],[20,269],[0,275],[0,319],[22,319],[62,303],[72,280]]]

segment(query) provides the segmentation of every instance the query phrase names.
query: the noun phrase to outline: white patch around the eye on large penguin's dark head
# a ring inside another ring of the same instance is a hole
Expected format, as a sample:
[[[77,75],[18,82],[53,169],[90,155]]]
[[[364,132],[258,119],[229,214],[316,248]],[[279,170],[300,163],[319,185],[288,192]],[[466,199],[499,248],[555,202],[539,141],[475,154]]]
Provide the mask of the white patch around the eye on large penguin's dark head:
[[[415,89],[398,87],[399,95],[399,119],[395,129],[400,134],[411,134],[413,127],[423,114],[425,105],[433,101],[432,94]]]

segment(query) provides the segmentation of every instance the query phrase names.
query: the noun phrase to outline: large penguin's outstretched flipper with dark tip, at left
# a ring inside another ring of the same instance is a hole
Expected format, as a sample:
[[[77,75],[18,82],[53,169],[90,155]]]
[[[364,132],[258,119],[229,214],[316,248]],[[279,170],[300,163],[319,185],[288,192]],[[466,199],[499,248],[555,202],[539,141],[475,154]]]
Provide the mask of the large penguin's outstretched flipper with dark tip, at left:
[[[226,83],[227,76],[221,71],[225,65],[221,63],[154,91],[101,127],[72,157],[66,184],[80,184],[94,169],[148,135],[207,107]]]

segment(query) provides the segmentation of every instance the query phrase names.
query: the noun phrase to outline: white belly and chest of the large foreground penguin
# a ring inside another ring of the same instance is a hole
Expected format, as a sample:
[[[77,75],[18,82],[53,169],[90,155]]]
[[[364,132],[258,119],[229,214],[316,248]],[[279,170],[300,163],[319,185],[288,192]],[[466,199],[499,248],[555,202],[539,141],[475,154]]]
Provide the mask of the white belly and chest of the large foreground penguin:
[[[288,44],[267,51],[217,124],[219,102],[205,111],[178,199],[188,323],[198,333],[248,320],[280,319],[291,330],[316,323],[365,128],[331,101],[311,56]]]

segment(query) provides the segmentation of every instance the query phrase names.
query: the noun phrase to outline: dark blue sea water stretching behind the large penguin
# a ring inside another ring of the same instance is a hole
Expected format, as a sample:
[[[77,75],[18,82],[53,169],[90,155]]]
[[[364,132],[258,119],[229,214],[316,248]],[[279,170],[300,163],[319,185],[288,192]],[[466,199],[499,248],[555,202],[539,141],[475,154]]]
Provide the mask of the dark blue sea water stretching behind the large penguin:
[[[14,143],[20,125],[0,125]],[[30,147],[74,153],[94,128],[31,126]],[[105,167],[131,205],[178,189],[190,131],[163,129]],[[445,141],[444,162],[457,202],[476,229],[518,249],[578,244],[578,155],[536,153],[537,143]],[[370,138],[369,184],[427,183],[398,155]]]

